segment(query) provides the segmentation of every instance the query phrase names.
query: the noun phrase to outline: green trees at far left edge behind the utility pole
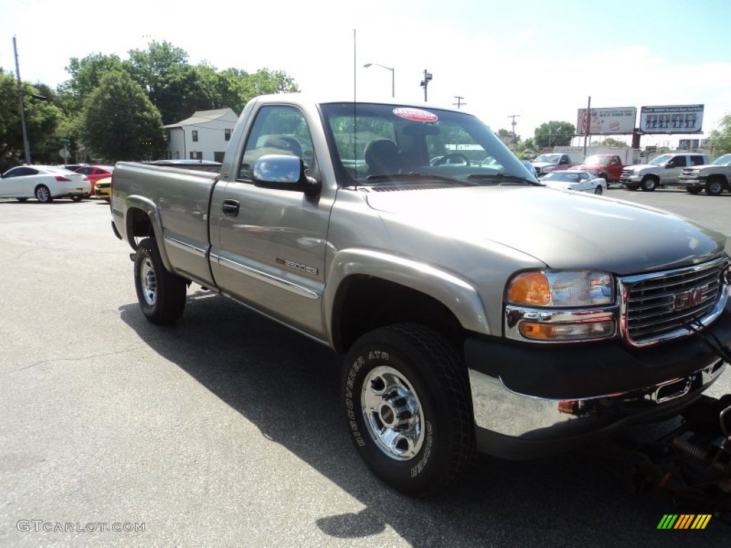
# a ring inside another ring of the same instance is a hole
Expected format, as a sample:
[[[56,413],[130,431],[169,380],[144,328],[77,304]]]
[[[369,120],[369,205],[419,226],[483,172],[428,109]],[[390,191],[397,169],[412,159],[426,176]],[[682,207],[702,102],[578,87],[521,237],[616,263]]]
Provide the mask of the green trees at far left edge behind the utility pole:
[[[48,86],[38,88],[23,83],[23,107],[26,118],[26,134],[31,161],[58,164],[58,124],[64,118],[61,109],[51,104]],[[45,99],[41,99],[44,97]],[[23,125],[18,111],[18,82],[10,72],[0,69],[0,172],[26,161],[23,145]]]

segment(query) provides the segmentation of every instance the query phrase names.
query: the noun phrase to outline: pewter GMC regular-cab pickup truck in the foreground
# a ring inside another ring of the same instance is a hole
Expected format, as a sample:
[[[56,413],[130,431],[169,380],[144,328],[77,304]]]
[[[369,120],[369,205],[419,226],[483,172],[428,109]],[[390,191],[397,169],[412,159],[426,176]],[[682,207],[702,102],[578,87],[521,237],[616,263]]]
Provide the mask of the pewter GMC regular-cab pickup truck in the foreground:
[[[150,321],[196,283],[343,355],[355,448],[402,492],[675,416],[726,366],[726,237],[548,189],[461,110],[260,96],[219,175],[120,162],[111,208]]]

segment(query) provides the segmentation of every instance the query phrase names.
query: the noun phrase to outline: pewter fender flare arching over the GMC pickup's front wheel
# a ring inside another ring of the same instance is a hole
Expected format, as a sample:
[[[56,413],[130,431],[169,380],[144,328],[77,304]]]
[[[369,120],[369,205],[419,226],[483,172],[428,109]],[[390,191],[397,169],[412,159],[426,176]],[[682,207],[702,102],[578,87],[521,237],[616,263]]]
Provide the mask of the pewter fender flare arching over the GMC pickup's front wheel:
[[[352,275],[374,276],[427,294],[449,308],[466,330],[490,334],[485,306],[470,283],[452,273],[404,257],[368,249],[347,249],[333,258],[325,284],[325,330],[330,335],[336,293],[341,283]]]

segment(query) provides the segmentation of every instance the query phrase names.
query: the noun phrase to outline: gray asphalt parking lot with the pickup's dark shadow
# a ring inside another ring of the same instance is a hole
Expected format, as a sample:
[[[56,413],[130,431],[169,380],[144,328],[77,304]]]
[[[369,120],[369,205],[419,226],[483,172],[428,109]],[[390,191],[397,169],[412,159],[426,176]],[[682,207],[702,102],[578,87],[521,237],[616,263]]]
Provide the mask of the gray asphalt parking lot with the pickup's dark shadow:
[[[731,194],[606,196],[731,235]],[[713,518],[658,530],[683,512],[596,448],[480,457],[439,498],[388,490],[349,441],[334,354],[197,286],[175,327],[149,324],[109,218],[0,201],[0,546],[729,546]]]

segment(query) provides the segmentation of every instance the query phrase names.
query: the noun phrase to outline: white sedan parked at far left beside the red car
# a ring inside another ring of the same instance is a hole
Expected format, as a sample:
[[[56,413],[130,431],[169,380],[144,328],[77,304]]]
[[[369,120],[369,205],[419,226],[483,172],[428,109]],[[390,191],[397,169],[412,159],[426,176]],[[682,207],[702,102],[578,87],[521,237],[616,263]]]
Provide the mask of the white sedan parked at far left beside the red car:
[[[53,166],[18,166],[0,175],[0,198],[17,198],[20,202],[35,198],[52,202],[54,198],[71,198],[75,202],[91,193],[86,175]]]

